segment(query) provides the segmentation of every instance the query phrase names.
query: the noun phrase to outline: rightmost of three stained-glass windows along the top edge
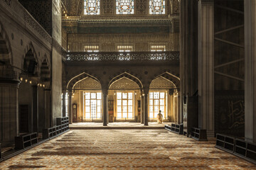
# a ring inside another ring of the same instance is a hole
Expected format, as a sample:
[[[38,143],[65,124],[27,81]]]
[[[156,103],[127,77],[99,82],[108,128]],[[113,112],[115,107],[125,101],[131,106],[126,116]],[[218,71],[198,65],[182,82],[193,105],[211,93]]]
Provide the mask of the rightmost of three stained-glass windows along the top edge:
[[[165,14],[165,0],[149,0],[149,14]]]

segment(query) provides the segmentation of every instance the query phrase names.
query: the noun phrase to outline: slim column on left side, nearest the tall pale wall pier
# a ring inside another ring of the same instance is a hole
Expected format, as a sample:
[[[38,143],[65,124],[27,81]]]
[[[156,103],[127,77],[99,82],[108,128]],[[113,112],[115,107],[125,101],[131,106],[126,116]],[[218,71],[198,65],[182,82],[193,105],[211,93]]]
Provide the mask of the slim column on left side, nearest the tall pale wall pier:
[[[53,127],[53,113],[51,109],[51,92],[50,89],[43,89],[45,95],[45,128]]]

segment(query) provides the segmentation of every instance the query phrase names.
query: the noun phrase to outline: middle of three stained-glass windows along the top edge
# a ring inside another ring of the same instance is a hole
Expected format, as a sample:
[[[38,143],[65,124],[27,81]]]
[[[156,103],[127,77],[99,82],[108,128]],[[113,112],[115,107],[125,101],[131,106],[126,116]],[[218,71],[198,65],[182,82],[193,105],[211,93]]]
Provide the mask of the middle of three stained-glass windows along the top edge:
[[[117,14],[134,14],[134,0],[116,0]]]

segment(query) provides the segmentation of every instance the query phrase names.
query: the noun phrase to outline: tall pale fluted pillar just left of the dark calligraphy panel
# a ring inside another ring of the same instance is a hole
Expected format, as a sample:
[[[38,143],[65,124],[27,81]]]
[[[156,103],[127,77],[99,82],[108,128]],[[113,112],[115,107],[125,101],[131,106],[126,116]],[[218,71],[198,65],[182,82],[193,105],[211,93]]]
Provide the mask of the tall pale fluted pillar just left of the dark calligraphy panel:
[[[214,136],[214,1],[198,1],[198,127]]]

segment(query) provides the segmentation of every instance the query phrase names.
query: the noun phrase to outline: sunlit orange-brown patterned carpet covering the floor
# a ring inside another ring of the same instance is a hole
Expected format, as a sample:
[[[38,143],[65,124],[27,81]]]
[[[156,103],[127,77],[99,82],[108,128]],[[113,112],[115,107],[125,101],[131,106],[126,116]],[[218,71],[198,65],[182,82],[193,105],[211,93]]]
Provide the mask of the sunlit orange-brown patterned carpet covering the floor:
[[[0,163],[0,169],[256,169],[167,130],[70,130]]]

